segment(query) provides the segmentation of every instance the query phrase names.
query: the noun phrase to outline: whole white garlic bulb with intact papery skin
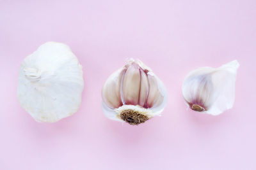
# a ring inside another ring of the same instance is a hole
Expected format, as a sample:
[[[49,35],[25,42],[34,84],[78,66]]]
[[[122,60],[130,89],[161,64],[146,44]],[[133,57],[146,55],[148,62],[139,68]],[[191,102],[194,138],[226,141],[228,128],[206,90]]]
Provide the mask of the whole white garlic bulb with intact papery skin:
[[[82,91],[82,66],[63,43],[41,45],[20,66],[18,99],[37,122],[56,122],[75,113]]]

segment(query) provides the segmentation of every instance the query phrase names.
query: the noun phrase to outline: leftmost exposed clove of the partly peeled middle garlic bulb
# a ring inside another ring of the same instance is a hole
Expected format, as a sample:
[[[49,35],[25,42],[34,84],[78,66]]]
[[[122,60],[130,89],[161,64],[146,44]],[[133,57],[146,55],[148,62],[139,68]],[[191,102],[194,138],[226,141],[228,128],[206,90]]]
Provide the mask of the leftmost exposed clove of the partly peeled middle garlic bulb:
[[[103,101],[110,108],[118,108],[119,106],[122,106],[120,88],[124,72],[125,69],[119,69],[113,73],[102,89]]]

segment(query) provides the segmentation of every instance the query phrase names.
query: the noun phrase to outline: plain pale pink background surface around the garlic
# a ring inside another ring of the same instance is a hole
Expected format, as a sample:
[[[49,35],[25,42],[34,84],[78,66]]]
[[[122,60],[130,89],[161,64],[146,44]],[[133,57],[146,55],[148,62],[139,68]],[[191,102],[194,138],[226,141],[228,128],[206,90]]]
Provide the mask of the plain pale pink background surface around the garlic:
[[[17,101],[20,63],[46,41],[83,65],[81,108],[37,123]],[[131,126],[104,117],[101,88],[124,60],[150,66],[168,89],[162,117]],[[0,0],[0,169],[256,169],[256,1]],[[186,74],[237,59],[234,108],[187,110]]]

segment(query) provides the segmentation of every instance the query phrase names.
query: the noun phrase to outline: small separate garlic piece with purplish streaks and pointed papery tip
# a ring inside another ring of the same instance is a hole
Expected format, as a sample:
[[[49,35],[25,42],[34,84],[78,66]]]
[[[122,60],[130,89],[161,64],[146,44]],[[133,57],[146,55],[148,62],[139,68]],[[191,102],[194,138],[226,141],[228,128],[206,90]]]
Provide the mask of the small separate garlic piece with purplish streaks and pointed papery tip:
[[[237,60],[221,67],[200,67],[186,76],[182,94],[189,108],[210,115],[220,115],[235,101]]]

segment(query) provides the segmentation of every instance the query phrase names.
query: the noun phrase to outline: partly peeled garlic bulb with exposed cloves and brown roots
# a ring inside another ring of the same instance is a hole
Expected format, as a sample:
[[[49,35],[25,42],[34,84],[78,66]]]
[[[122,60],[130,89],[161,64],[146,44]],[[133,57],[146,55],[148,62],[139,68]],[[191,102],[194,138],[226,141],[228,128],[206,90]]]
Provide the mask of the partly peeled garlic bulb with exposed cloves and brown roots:
[[[138,125],[163,111],[167,92],[150,68],[131,59],[109,76],[102,88],[102,99],[106,117]]]

